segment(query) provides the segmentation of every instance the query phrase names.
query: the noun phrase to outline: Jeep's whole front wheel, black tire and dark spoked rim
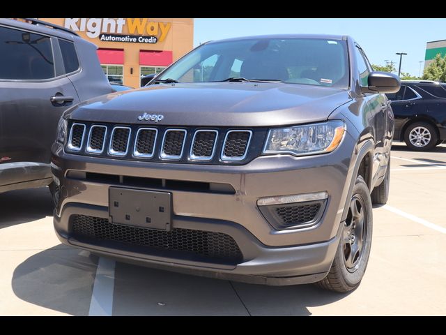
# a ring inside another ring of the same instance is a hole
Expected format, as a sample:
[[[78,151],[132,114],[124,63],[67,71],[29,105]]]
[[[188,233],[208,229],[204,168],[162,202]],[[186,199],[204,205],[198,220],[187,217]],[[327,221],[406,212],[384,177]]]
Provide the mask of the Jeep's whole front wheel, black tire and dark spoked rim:
[[[341,240],[328,275],[316,285],[334,292],[348,292],[360,285],[369,262],[372,213],[369,188],[361,176],[353,187]]]

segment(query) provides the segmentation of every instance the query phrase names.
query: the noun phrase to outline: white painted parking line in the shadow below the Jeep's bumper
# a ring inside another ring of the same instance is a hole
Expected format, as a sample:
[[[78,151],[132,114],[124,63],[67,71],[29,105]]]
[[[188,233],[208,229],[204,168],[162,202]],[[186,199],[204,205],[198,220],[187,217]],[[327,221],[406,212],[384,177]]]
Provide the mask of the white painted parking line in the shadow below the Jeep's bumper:
[[[115,261],[99,258],[89,315],[112,316]]]

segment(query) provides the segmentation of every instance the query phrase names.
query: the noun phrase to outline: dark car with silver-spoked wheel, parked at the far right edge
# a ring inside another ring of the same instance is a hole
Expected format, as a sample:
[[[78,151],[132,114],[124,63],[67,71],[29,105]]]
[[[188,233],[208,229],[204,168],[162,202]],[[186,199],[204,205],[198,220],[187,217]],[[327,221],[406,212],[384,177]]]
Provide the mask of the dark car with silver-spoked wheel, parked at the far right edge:
[[[446,84],[403,80],[401,89],[387,98],[392,101],[395,140],[417,151],[446,140]]]

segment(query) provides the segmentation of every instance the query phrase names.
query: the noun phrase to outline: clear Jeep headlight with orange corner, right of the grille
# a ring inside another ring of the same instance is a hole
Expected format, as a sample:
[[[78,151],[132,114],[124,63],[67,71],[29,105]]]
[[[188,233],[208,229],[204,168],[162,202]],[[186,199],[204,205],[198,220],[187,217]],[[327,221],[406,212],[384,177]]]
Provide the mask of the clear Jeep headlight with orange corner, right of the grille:
[[[342,121],[271,129],[263,154],[304,156],[333,151],[344,137]]]

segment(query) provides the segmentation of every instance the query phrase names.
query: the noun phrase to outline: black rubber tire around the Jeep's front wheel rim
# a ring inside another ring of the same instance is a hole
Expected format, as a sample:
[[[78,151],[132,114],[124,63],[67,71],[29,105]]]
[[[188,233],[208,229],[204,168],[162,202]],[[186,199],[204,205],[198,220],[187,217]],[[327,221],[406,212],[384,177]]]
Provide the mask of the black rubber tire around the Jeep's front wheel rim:
[[[349,243],[346,242],[346,237],[354,237],[354,234],[346,234],[346,231],[348,231],[348,227],[355,228],[353,225],[353,223],[355,223],[355,219],[353,219],[351,210],[349,209],[347,220],[344,225],[344,231],[343,234],[341,234],[339,246],[332,262],[332,267],[330,268],[330,271],[325,278],[315,283],[320,288],[334,292],[348,292],[357,288],[357,286],[359,286],[361,283],[365,269],[367,268],[367,263],[369,262],[373,226],[370,192],[367,184],[361,176],[358,176],[355,181],[355,186],[353,187],[353,193],[351,196],[351,202],[349,202],[349,204],[356,205],[357,201],[359,200],[361,200],[362,204],[359,212],[362,213],[364,217],[362,228],[365,228],[365,231],[362,230],[363,239],[360,253],[357,254],[357,258],[354,258],[356,260],[352,263],[354,266],[348,267],[348,260],[346,260],[346,258],[348,258],[348,255],[350,254],[353,255],[353,253],[346,254],[346,251],[348,251],[348,248],[346,248],[346,246],[348,246]],[[357,225],[356,227],[359,228],[360,225]],[[357,230],[353,231],[356,232]],[[353,240],[355,239],[353,238]],[[348,241],[351,241],[351,239],[348,239]]]

